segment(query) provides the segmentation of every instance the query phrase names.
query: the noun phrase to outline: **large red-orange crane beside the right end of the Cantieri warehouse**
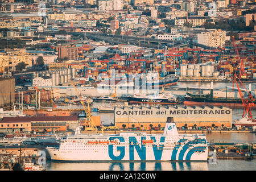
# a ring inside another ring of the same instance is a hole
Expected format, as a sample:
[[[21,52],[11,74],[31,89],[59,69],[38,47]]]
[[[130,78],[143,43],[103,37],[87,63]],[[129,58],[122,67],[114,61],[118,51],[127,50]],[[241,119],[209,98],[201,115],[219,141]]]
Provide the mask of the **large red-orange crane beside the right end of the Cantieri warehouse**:
[[[233,89],[231,92],[233,92],[234,90],[234,84],[236,82],[237,84],[237,89],[238,89],[238,92],[240,94],[240,97],[241,97],[241,100],[242,100],[242,103],[243,103],[243,115],[242,115],[242,118],[244,117],[248,117],[248,118],[251,118],[253,119],[253,115],[251,114],[251,107],[254,106],[254,98],[253,96],[251,95],[251,93],[245,88],[245,85],[242,84],[240,78],[238,78],[238,80],[240,81],[240,83],[242,84],[243,88],[246,90],[246,92],[248,93],[248,97],[246,98],[246,100],[243,98],[242,96],[242,93],[241,93],[241,90],[238,86],[238,82],[237,82],[237,78],[238,76],[236,75],[236,73],[234,73],[234,76],[232,77],[232,80],[233,80]]]

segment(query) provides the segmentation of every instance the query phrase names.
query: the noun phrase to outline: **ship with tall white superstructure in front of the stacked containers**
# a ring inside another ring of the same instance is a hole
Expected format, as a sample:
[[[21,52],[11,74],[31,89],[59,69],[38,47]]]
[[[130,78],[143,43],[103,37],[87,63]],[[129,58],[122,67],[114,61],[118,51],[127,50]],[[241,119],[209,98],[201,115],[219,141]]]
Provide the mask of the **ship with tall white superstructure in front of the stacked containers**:
[[[158,86],[162,88],[163,86],[174,86],[177,85],[179,77],[177,76],[166,76],[164,78],[159,77],[157,71],[150,71],[146,75],[146,86]],[[143,83],[141,84],[143,86]]]

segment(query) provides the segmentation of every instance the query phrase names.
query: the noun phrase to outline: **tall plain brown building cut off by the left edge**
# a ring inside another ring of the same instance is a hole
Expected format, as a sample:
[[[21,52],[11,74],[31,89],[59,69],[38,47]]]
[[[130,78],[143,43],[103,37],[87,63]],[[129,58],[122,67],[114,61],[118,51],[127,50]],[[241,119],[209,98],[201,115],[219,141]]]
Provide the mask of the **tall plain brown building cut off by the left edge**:
[[[15,78],[0,78],[0,107],[9,106],[15,100]]]

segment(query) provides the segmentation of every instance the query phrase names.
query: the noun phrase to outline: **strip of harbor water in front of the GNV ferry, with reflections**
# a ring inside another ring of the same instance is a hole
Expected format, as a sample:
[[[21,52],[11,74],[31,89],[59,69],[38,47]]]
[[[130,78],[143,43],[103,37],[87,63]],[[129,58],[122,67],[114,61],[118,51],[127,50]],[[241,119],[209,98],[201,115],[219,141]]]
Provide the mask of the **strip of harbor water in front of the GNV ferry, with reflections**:
[[[255,171],[256,159],[208,162],[104,162],[67,163],[47,161],[48,171]]]

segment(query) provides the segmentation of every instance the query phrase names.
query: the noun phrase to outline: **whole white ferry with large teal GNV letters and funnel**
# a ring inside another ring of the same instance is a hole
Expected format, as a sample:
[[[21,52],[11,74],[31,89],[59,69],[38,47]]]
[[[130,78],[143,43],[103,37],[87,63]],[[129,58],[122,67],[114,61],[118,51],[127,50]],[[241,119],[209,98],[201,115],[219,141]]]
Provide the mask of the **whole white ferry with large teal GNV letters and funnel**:
[[[208,146],[204,134],[177,133],[168,118],[163,134],[123,132],[115,135],[75,135],[61,140],[59,147],[47,147],[52,160],[63,161],[207,161]]]

